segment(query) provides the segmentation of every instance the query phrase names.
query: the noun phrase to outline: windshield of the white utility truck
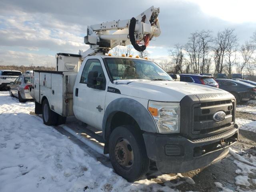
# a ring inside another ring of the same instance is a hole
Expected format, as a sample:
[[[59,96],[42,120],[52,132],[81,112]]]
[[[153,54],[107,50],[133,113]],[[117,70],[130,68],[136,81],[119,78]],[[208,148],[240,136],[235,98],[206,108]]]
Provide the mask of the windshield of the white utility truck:
[[[154,62],[128,58],[105,58],[112,80],[145,79],[169,80],[173,79]]]

